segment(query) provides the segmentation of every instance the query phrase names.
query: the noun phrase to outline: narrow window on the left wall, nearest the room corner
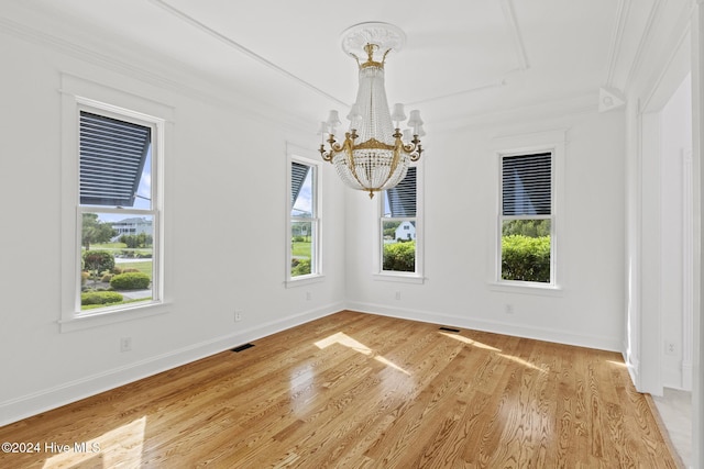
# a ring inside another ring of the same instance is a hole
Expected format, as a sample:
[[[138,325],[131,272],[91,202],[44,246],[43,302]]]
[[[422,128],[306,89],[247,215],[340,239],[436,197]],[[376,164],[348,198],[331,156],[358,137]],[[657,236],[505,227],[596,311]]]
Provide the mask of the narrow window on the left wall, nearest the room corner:
[[[318,164],[290,159],[289,280],[320,275],[319,171]]]

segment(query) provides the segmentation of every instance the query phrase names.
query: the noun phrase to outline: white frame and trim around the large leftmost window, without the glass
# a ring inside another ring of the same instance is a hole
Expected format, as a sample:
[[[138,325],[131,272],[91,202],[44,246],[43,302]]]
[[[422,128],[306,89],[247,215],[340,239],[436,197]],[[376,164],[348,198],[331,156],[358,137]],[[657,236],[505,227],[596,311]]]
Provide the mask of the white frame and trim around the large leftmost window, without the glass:
[[[62,76],[62,309],[61,332],[72,332],[167,312],[164,276],[164,154],[173,109],[114,88]],[[133,122],[152,130],[151,209],[80,204],[80,112]],[[81,311],[82,213],[148,215],[153,226],[152,300]]]

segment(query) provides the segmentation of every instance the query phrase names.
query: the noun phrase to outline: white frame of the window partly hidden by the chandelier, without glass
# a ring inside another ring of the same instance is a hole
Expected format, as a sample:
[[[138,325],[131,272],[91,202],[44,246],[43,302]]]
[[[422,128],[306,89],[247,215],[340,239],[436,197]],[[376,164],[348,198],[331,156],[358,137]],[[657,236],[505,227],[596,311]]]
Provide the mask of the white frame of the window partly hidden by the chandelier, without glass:
[[[425,245],[425,225],[424,225],[424,161],[410,165],[416,168],[416,216],[384,216],[384,191],[378,192],[378,201],[376,202],[376,228],[374,255],[373,255],[373,279],[381,281],[396,281],[405,283],[424,283],[424,245]],[[416,270],[413,272],[403,272],[395,270],[384,270],[384,222],[415,222],[416,225]]]

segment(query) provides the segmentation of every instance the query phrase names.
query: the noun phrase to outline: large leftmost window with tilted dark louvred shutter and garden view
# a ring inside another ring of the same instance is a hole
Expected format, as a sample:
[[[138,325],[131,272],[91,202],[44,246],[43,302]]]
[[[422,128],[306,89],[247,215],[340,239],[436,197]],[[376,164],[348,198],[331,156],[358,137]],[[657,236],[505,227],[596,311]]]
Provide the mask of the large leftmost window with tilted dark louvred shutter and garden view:
[[[157,125],[78,113],[80,313],[160,301]]]

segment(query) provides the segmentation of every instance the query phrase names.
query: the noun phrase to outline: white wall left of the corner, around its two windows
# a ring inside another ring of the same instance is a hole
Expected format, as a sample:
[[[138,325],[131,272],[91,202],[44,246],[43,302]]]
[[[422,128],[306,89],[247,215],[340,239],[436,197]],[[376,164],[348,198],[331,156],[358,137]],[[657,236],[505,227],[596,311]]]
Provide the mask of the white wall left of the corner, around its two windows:
[[[179,87],[177,71],[141,72],[42,38],[0,30],[0,425],[343,308],[344,190],[329,166],[327,276],[305,288],[284,284],[292,130],[208,83]],[[174,109],[165,314],[59,332],[62,295],[72,294],[61,282],[61,226],[70,223],[61,216],[62,74]],[[315,150],[312,131],[297,138]],[[235,308],[243,311],[238,323]],[[127,336],[133,349],[120,353]]]

